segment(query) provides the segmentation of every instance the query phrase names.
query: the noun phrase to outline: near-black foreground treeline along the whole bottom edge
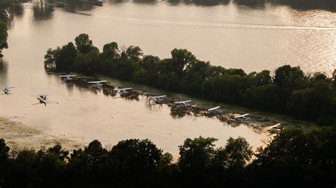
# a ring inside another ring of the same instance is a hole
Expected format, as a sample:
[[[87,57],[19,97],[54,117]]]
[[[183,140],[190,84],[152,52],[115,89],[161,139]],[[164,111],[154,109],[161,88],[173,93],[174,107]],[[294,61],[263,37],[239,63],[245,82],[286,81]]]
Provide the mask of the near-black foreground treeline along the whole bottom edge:
[[[216,139],[186,139],[179,159],[145,139],[111,149],[97,140],[71,153],[52,148],[9,151],[0,139],[1,187],[334,187],[335,127],[281,131],[252,151],[242,137],[215,148]],[[254,156],[254,157],[252,157]]]

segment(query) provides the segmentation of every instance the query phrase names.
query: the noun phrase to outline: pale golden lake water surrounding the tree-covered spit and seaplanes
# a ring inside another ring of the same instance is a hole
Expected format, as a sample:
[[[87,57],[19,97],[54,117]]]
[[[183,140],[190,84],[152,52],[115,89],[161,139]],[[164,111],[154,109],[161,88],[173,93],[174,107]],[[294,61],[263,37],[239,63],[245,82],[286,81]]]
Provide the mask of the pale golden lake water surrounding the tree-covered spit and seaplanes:
[[[254,147],[268,137],[217,119],[176,119],[167,106],[148,108],[145,99],[113,99],[46,74],[47,48],[65,45],[80,33],[88,33],[100,49],[116,41],[164,58],[174,47],[186,48],[198,59],[247,72],[291,64],[331,74],[336,67],[336,13],[330,6],[310,9],[264,1],[103,1],[103,6],[93,6],[68,1],[64,8],[48,8],[39,3],[12,10],[0,87],[16,88],[12,95],[0,96],[0,116],[82,143],[148,138],[177,155],[177,146],[188,137],[213,136],[223,146],[229,136],[243,136]],[[35,98],[30,95],[37,93],[52,93],[57,104],[31,105]]]

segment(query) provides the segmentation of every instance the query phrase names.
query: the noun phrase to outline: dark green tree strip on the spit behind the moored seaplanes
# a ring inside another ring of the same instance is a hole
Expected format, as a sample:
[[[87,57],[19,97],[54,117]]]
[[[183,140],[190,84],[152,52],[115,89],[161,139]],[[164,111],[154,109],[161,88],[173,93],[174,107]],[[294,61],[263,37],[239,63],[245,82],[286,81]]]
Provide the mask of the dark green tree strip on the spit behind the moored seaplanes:
[[[159,59],[143,55],[140,47],[119,48],[111,42],[99,52],[86,34],[76,37],[75,43],[48,49],[45,67],[104,74],[218,102],[292,114],[322,126],[336,122],[336,71],[328,78],[285,65],[274,76],[267,70],[246,74],[242,69],[211,66],[186,49],[173,49],[171,58]]]

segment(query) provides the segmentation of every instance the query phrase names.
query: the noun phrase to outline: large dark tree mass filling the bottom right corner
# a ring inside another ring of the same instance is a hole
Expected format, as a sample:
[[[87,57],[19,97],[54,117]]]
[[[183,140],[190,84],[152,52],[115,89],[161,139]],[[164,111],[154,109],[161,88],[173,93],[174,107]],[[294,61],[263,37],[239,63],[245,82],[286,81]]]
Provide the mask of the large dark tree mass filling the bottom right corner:
[[[299,186],[333,186],[336,175],[335,135],[335,128],[281,131],[265,148],[259,148],[251,165],[257,177],[252,178],[264,178],[279,186],[289,181]]]

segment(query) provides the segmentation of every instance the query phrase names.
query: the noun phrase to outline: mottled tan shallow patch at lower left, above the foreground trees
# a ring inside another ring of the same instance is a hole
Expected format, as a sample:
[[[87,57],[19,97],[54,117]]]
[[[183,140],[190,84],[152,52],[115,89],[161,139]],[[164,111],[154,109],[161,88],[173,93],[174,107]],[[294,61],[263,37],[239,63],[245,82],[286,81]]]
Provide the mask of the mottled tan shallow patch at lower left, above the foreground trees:
[[[45,134],[38,128],[29,127],[21,122],[16,122],[14,118],[0,117],[0,138],[5,139],[6,144],[15,150],[49,148],[61,143],[66,150],[72,151],[74,148],[84,148],[83,143],[70,139],[58,138]]]

